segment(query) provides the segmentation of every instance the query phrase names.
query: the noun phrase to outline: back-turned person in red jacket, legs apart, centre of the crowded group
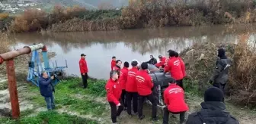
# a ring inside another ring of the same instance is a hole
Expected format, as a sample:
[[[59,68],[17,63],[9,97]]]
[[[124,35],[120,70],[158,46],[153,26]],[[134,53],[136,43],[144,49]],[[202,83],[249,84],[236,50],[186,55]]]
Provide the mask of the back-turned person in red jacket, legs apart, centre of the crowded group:
[[[139,94],[139,119],[143,119],[145,116],[142,113],[144,100],[147,98],[152,103],[152,120],[157,121],[156,117],[156,101],[152,94],[151,88],[153,88],[152,77],[148,73],[148,64],[142,63],[141,70],[136,73],[136,84]]]

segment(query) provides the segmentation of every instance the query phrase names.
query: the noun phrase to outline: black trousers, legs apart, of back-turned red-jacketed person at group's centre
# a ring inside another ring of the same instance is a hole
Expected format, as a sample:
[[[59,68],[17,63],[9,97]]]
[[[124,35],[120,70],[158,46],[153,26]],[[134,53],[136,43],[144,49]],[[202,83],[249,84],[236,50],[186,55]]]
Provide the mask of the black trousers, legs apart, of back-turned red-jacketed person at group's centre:
[[[139,95],[139,117],[143,115],[143,103],[145,98],[147,98],[152,103],[152,119],[156,118],[156,101],[153,94],[141,96]]]

